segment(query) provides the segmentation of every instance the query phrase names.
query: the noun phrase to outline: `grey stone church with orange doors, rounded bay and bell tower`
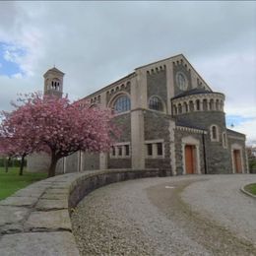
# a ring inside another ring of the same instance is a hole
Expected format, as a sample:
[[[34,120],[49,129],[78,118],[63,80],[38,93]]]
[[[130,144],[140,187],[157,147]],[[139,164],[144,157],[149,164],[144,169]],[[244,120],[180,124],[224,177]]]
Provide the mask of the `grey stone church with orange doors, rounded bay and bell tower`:
[[[62,96],[64,73],[44,74],[44,94]],[[160,168],[171,175],[248,172],[245,135],[227,129],[224,94],[213,92],[188,60],[176,55],[136,68],[86,96],[81,105],[113,110],[122,136],[109,153],[79,152],[58,163],[58,172]],[[100,124],[99,124],[100,125]],[[44,155],[29,169],[45,169]]]

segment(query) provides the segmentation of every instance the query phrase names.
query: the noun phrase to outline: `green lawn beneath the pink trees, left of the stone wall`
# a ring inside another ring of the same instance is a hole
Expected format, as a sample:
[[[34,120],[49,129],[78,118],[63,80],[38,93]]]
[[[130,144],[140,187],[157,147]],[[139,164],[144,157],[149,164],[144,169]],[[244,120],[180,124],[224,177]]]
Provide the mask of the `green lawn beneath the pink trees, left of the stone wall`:
[[[0,200],[9,197],[17,190],[27,187],[32,182],[46,178],[47,173],[32,173],[24,171],[24,175],[19,175],[19,168],[12,167],[6,173],[3,167],[0,167]]]

